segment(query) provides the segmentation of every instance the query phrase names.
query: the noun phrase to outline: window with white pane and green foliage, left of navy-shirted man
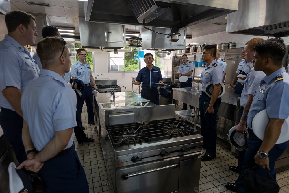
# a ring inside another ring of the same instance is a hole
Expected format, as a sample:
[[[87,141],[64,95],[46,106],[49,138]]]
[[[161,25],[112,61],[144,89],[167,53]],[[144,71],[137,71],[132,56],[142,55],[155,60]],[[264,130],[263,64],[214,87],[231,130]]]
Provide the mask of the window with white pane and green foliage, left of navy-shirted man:
[[[125,49],[129,49],[128,46]],[[138,48],[131,52],[109,52],[109,71],[139,71]]]

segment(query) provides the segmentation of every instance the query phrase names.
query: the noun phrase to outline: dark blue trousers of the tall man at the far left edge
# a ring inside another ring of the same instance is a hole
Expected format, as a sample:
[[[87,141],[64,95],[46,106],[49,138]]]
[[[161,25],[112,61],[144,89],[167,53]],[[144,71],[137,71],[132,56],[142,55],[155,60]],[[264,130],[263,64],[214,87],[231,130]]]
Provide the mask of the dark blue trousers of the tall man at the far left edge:
[[[6,139],[10,142],[19,163],[26,160],[22,142],[23,118],[15,111],[1,108],[0,125]]]

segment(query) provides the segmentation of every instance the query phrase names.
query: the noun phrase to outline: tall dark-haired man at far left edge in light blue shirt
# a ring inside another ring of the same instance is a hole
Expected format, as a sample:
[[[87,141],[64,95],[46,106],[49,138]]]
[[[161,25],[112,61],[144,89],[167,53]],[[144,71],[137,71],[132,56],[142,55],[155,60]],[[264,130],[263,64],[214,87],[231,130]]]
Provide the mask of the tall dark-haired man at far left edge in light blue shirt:
[[[22,142],[23,113],[20,98],[26,85],[38,77],[39,68],[25,48],[38,35],[36,19],[14,10],[5,15],[8,34],[0,42],[0,125],[19,163],[26,159]]]

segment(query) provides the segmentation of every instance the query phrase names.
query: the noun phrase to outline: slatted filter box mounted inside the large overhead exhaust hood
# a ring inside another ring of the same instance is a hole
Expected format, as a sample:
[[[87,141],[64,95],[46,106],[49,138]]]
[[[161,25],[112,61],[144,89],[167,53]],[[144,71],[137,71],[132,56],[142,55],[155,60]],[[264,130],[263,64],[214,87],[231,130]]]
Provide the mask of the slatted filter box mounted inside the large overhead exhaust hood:
[[[127,2],[140,23],[142,23],[143,20],[145,23],[149,23],[171,8],[171,3],[158,2],[157,4],[156,1],[153,0],[127,0]]]

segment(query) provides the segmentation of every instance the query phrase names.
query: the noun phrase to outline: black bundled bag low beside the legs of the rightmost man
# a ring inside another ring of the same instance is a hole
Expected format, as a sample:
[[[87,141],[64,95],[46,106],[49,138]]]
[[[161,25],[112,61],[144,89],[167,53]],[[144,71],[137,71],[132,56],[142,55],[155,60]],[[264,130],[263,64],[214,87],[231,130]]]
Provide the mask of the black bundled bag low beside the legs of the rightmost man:
[[[274,180],[272,175],[266,169],[268,178],[260,176],[257,173],[257,168],[259,166],[255,166],[251,169],[245,169],[242,171],[242,180],[244,186],[246,186],[252,192],[257,193],[278,193],[280,187],[278,183]]]

